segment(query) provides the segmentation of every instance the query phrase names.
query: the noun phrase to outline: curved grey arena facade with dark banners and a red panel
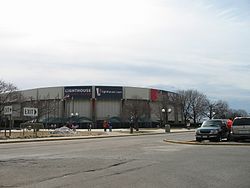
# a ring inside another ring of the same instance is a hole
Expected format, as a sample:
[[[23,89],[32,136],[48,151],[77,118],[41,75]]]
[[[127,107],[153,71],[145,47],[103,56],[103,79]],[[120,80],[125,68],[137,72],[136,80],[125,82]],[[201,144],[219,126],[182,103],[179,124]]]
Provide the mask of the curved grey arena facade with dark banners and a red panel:
[[[131,117],[143,127],[154,127],[164,120],[182,121],[181,110],[172,100],[176,93],[152,88],[121,86],[65,86],[20,91],[22,102],[13,105],[14,121],[34,117],[23,115],[22,108],[36,108],[36,119],[46,125],[60,126],[75,121],[81,128],[92,123],[101,128],[104,120],[114,128],[127,127]],[[164,109],[164,110],[162,110]],[[166,110],[165,110],[166,109]]]

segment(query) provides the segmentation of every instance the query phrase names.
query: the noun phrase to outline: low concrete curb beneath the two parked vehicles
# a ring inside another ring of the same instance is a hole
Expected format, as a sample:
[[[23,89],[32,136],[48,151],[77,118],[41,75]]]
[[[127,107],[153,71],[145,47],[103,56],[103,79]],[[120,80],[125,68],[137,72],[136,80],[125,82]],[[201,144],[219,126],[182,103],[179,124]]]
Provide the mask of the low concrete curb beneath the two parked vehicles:
[[[196,141],[177,141],[177,140],[163,140],[164,142],[172,144],[187,144],[187,145],[208,145],[208,146],[250,146],[250,143],[223,143],[223,142],[196,142]]]

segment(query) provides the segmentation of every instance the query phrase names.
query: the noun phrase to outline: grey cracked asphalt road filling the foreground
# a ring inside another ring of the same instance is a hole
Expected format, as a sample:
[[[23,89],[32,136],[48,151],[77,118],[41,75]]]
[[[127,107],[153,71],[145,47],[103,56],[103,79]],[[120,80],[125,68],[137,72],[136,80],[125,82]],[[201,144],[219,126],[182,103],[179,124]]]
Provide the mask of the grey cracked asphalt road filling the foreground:
[[[1,144],[0,187],[249,187],[250,146],[166,138],[193,133]]]

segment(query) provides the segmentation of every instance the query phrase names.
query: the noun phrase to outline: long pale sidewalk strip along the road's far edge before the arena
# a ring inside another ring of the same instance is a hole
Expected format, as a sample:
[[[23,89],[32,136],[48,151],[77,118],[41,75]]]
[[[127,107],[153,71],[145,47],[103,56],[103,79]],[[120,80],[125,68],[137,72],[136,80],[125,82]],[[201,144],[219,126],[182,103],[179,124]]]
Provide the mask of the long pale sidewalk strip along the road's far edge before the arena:
[[[101,133],[100,135],[70,135],[70,136],[59,136],[59,137],[45,137],[45,138],[19,138],[19,139],[0,139],[0,144],[8,143],[22,143],[22,142],[41,142],[41,141],[59,141],[59,140],[75,140],[75,139],[96,139],[96,138],[111,138],[111,137],[124,137],[124,136],[140,136],[140,135],[154,135],[154,134],[171,134],[171,133],[181,133],[181,132],[193,132],[193,129],[187,130],[185,128],[181,129],[171,129],[170,133],[166,133],[165,129],[139,129],[139,131],[133,131],[130,133],[130,129],[113,129],[112,132],[104,132],[103,129],[92,129],[92,131],[87,131],[86,129],[77,129],[77,132],[86,133]]]

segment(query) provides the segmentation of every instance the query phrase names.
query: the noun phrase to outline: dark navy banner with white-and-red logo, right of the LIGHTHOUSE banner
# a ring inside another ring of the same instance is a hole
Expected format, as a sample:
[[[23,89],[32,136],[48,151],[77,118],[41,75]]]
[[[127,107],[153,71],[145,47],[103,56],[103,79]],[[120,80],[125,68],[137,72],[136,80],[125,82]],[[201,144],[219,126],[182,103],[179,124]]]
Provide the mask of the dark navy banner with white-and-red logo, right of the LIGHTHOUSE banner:
[[[96,86],[97,99],[122,99],[122,87]]]

